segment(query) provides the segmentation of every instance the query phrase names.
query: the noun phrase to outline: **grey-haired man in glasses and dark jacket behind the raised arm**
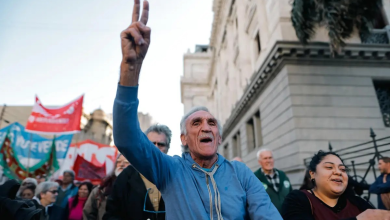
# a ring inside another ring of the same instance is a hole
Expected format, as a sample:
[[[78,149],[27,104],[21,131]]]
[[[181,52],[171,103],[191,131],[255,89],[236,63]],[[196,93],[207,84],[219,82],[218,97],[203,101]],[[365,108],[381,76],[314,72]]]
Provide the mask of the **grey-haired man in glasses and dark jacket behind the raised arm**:
[[[162,153],[168,153],[172,132],[167,126],[152,125],[145,135]],[[160,191],[131,165],[118,176],[107,199],[103,220],[110,219],[165,219],[165,204]]]

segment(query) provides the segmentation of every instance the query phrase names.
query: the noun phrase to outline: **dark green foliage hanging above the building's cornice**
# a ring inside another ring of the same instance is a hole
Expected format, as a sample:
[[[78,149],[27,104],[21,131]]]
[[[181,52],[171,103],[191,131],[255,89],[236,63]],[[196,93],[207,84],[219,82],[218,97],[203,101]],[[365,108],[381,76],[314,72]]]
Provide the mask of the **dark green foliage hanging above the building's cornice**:
[[[298,39],[306,44],[316,25],[328,30],[332,52],[345,46],[354,27],[367,34],[382,7],[382,0],[294,0],[291,21]]]

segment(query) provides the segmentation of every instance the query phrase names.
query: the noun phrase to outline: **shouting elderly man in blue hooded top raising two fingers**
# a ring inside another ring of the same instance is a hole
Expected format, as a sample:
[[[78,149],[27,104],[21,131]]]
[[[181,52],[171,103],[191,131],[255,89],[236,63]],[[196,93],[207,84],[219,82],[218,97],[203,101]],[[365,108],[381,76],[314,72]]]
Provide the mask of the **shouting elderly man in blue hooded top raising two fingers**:
[[[140,1],[135,0],[133,22],[121,33],[123,58],[114,102],[114,140],[162,193],[166,219],[282,219],[250,169],[217,154],[222,130],[206,108],[193,109],[181,120],[181,142],[189,149],[182,157],[165,155],[142,133],[137,93],[150,44],[149,3],[143,2],[140,20],[139,11]]]

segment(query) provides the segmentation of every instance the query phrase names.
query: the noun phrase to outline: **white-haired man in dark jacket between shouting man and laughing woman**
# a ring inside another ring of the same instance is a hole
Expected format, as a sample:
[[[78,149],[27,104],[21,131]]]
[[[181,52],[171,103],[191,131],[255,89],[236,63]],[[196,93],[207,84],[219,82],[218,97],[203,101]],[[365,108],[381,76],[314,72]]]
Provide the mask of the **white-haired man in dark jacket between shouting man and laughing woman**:
[[[255,175],[263,184],[272,203],[280,211],[284,198],[292,191],[290,180],[283,171],[274,168],[274,158],[270,150],[259,150],[257,161],[260,169],[255,172]]]

